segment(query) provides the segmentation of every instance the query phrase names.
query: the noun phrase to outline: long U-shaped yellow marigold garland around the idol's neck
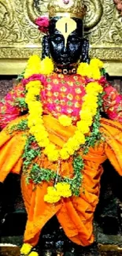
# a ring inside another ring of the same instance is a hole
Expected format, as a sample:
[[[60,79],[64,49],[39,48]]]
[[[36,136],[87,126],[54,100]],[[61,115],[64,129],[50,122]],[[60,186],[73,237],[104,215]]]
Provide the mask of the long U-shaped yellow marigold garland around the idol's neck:
[[[52,61],[50,61],[50,58],[46,58],[46,60],[43,61],[45,61],[46,64],[48,62],[48,72],[51,72],[51,70],[53,69],[53,65]],[[39,67],[39,58],[37,58],[37,62],[37,66]],[[31,70],[31,63],[33,63],[32,58],[28,61],[28,75],[29,70]],[[47,66],[45,68],[44,66],[43,73],[45,69],[46,74]],[[97,70],[98,72],[99,68],[102,67],[102,61],[94,59],[91,61],[90,65],[88,65],[87,63],[81,63],[79,64],[77,73],[82,76],[89,77],[90,74],[87,73],[87,70],[88,72],[91,71],[92,73],[93,69],[91,69],[91,66],[94,67],[94,72],[95,70]],[[25,74],[27,76],[26,71]],[[47,155],[50,161],[57,161],[59,158],[66,160],[69,158],[70,155],[74,154],[76,150],[79,150],[81,144],[85,143],[85,134],[90,131],[94,115],[97,112],[98,108],[98,95],[102,93],[103,89],[98,82],[91,82],[87,84],[86,95],[83,97],[83,106],[79,113],[80,121],[78,121],[76,124],[77,131],[70,139],[68,139],[68,142],[64,144],[61,150],[57,150],[55,145],[50,143],[48,133],[46,132],[46,128],[43,125],[43,104],[36,99],[36,97],[40,95],[40,90],[42,89],[42,87],[43,85],[40,83],[39,80],[31,81],[26,85],[26,90],[28,91],[28,93],[26,95],[25,102],[28,104],[29,109],[28,127],[30,128],[30,133],[35,136],[39,147],[45,148],[44,154]],[[59,118],[59,120],[61,119],[63,118]],[[67,126],[67,124],[69,125],[70,122],[71,120],[68,121],[68,118],[64,118],[62,124]]]

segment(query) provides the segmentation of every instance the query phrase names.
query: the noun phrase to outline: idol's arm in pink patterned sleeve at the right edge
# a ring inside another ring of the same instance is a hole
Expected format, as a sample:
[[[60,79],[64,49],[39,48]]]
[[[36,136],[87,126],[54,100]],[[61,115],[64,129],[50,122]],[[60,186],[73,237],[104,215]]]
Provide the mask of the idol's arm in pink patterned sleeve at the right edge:
[[[109,85],[104,89],[103,109],[109,119],[122,122],[122,95]]]

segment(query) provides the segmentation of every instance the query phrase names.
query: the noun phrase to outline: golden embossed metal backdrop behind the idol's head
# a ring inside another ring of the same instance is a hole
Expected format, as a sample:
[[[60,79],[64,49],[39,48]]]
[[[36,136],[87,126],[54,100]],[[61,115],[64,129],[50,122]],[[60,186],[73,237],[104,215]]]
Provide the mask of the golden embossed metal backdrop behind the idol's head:
[[[35,18],[46,15],[48,0],[0,0],[1,75],[20,73],[31,54],[41,54]],[[84,0],[90,55],[105,62],[110,76],[122,76],[122,22],[113,0]]]

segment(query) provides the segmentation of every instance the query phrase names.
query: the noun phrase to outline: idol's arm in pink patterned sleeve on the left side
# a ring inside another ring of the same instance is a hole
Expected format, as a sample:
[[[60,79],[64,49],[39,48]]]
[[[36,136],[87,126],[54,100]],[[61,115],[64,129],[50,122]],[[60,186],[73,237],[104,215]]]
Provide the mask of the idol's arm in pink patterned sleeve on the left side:
[[[16,119],[27,110],[24,98],[25,87],[19,83],[0,101],[0,128],[6,127],[9,121]]]

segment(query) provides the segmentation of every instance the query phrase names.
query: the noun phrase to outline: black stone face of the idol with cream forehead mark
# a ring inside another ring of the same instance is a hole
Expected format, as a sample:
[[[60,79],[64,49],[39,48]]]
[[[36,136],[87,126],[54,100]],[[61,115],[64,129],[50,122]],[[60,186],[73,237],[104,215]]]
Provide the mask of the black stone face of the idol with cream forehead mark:
[[[72,24],[69,24],[70,20]],[[58,17],[50,20],[50,54],[58,69],[75,68],[82,54],[83,21],[76,18],[70,20],[68,24],[62,22],[60,28],[57,26]],[[67,28],[68,25],[70,28]],[[65,30],[68,30],[66,38]]]

